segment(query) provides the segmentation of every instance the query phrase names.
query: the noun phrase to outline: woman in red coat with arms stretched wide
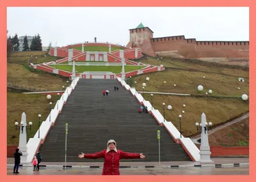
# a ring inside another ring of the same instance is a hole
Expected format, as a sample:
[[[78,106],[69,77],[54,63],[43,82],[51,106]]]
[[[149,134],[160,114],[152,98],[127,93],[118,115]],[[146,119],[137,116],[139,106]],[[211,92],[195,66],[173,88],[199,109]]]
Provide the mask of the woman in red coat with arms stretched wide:
[[[142,153],[125,153],[116,149],[115,140],[108,140],[108,148],[98,153],[84,154],[79,158],[104,158],[102,175],[120,175],[119,161],[122,158],[145,158]]]

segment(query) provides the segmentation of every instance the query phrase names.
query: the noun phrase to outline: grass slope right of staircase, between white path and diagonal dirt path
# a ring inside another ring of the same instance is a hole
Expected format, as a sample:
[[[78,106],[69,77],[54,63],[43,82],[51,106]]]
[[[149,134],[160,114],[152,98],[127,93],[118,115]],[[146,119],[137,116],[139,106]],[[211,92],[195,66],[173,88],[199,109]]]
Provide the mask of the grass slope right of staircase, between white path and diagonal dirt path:
[[[143,93],[142,93],[143,95]],[[151,103],[151,96],[145,94],[145,100]],[[197,133],[195,123],[201,122],[201,114],[205,113],[207,122],[213,125],[223,123],[249,110],[248,102],[236,98],[198,98],[194,96],[153,96],[153,107],[163,115],[163,103],[166,104],[164,118],[171,121],[179,130],[179,114],[182,115],[182,135],[189,136]],[[183,104],[186,107],[183,107]],[[172,105],[172,110],[167,106]],[[182,113],[182,110],[185,113]]]

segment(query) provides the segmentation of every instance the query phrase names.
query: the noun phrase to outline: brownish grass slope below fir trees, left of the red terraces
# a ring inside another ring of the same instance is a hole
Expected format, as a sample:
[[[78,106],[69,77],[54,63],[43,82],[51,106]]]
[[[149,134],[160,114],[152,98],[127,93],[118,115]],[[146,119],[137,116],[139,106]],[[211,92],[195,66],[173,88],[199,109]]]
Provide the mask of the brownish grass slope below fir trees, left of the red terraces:
[[[10,57],[7,57],[7,59],[7,82],[45,88],[49,91],[60,90],[62,89],[62,86],[65,86],[66,84],[67,78],[54,76],[39,70],[31,72],[25,68],[28,67],[28,59],[32,61],[36,61],[36,59],[38,59],[37,63],[44,63],[59,59],[58,57],[49,56],[46,51],[13,52]]]

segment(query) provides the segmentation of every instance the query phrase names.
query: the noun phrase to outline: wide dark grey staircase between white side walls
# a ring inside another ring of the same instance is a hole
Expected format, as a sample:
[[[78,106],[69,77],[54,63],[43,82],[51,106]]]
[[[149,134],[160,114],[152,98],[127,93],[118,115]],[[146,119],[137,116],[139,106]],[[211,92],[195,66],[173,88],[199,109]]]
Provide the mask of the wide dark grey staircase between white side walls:
[[[114,91],[113,87],[119,90]],[[109,95],[102,91],[108,89]],[[191,160],[180,144],[176,144],[163,126],[146,113],[138,113],[140,104],[117,80],[80,79],[76,89],[47,135],[40,153],[44,162],[65,161],[65,124],[68,123],[67,162],[102,162],[103,159],[80,159],[83,153],[95,153],[107,147],[109,139],[117,148],[143,153],[145,159],[125,162],[159,160],[157,130],[161,130],[161,161]]]

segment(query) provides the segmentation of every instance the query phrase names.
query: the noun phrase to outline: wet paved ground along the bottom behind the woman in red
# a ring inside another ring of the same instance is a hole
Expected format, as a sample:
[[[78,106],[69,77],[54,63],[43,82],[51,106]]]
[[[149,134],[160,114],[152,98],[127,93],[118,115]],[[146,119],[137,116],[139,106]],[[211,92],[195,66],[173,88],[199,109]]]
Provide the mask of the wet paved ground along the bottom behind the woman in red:
[[[102,169],[61,169],[41,167],[40,171],[33,171],[33,167],[20,167],[19,174],[13,174],[12,166],[7,169],[8,175],[101,175]],[[164,168],[128,168],[120,169],[121,175],[248,175],[248,167],[190,167],[186,169]]]

